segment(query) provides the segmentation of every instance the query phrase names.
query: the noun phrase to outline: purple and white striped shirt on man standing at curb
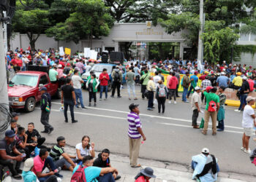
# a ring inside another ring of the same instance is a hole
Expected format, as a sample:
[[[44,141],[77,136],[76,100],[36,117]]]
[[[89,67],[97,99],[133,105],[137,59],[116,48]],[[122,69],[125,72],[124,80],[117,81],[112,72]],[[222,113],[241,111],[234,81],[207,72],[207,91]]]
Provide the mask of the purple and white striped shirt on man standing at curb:
[[[138,139],[141,137],[140,133],[138,132],[138,127],[141,128],[140,116],[135,112],[130,112],[127,116],[127,120],[129,122],[129,130],[128,136],[132,139]]]

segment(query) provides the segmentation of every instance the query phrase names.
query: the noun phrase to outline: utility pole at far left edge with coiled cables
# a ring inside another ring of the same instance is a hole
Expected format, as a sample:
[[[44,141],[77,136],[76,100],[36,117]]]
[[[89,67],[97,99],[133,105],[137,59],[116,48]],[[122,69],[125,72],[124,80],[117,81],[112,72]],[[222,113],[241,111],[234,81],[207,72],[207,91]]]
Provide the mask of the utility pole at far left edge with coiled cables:
[[[1,12],[0,12],[0,42],[4,42],[4,32],[3,25],[4,21],[1,20]],[[4,58],[4,44],[0,44],[0,104],[7,106],[9,110],[9,100],[8,100],[8,92],[7,92],[7,72],[5,66],[5,58]],[[7,114],[4,114],[0,111],[0,127],[7,121]],[[0,132],[0,138],[4,138],[4,132]]]

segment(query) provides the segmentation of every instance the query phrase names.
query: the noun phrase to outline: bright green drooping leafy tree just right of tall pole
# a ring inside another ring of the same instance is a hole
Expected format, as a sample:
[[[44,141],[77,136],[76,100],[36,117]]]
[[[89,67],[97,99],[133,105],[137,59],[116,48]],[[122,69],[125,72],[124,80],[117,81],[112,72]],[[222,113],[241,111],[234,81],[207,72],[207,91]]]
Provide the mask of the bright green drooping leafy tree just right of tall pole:
[[[204,45],[204,59],[215,63],[219,60],[229,60],[233,45],[239,38],[238,34],[225,21],[207,21],[205,33],[201,36]]]

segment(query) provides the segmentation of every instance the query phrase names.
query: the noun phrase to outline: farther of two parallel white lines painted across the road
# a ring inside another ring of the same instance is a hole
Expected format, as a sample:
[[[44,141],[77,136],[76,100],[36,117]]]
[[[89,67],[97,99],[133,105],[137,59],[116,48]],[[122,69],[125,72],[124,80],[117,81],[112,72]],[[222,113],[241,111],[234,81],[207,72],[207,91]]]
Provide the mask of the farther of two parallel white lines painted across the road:
[[[61,103],[56,103],[56,102],[52,102],[55,104],[59,104],[61,105]],[[91,109],[95,109],[95,110],[102,110],[102,111],[110,111],[110,112],[118,112],[118,113],[124,113],[124,114],[128,114],[127,111],[118,111],[118,110],[113,110],[113,109],[108,109],[108,108],[95,108],[95,107],[87,107],[87,108],[91,108]],[[173,118],[173,117],[165,117],[165,116],[154,116],[154,115],[149,115],[149,114],[140,114],[140,116],[148,116],[151,118],[159,118],[159,119],[167,119],[167,120],[174,120],[174,121],[180,121],[180,122],[192,122],[189,119],[180,119],[180,118]],[[200,123],[200,121],[197,121]],[[211,123],[209,123],[209,125],[212,125]],[[229,126],[229,125],[225,125],[225,127],[230,127],[233,129],[237,129],[237,130],[243,130],[242,127],[233,127],[233,126]]]

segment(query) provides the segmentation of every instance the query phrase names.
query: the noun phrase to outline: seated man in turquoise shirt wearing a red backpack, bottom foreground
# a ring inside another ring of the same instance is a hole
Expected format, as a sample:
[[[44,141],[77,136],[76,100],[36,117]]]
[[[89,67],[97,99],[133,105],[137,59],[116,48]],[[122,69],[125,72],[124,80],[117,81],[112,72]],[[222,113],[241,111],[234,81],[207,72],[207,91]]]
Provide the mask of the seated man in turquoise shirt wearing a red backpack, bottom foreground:
[[[94,158],[91,156],[83,157],[83,165],[77,165],[72,173],[71,182],[114,182],[112,173],[118,174],[114,167],[95,167]]]

